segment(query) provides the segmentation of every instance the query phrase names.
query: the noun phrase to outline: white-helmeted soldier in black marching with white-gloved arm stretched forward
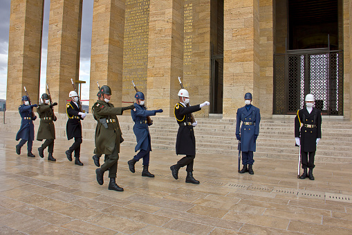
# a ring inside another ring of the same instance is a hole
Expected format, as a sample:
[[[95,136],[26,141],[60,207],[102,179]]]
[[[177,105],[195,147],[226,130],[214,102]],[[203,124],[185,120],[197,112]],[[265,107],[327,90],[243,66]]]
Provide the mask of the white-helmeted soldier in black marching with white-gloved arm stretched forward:
[[[205,105],[210,105],[205,101],[200,105],[187,106],[189,104],[189,94],[186,89],[180,89],[178,92],[180,102],[174,107],[174,114],[179,125],[176,138],[176,155],[186,155],[181,158],[177,164],[170,166],[172,176],[178,179],[178,170],[181,167],[187,166],[186,183],[199,184],[199,181],[193,177],[193,164],[196,157],[196,138],[194,137],[193,127],[197,122],[192,123],[191,114],[197,112]]]

